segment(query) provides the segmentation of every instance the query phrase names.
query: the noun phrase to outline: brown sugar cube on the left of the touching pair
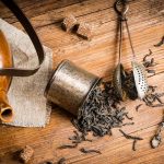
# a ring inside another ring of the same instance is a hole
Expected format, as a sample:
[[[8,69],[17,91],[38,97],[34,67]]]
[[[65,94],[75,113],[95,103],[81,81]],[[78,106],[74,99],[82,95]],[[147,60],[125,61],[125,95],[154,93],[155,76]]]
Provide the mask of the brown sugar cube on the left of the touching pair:
[[[71,30],[73,30],[73,27],[75,26],[77,24],[77,20],[75,17],[70,14],[68,15],[67,17],[65,17],[62,24],[61,24],[61,27],[66,31],[66,32],[69,32]]]

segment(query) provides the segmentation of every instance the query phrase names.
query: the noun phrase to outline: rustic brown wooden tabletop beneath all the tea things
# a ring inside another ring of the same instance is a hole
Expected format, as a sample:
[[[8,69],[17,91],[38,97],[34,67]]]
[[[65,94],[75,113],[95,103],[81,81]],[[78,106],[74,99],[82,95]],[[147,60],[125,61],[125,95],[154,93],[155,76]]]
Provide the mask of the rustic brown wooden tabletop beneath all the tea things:
[[[82,68],[105,79],[112,78],[117,63],[116,13],[113,9],[114,0],[16,0],[26,15],[31,19],[44,45],[54,50],[54,66],[62,59],[70,59]],[[83,40],[74,34],[65,33],[60,22],[68,13],[74,14],[79,21],[85,21],[93,26],[91,42]],[[2,19],[22,28],[13,14],[0,3]],[[164,91],[164,46],[155,48],[164,35],[164,1],[163,0],[131,0],[128,13],[133,44],[141,61],[149,48],[159,65],[156,75],[149,78],[149,82],[159,85]],[[122,62],[130,69],[131,51],[124,35]],[[66,156],[67,163],[94,164],[163,164],[164,143],[153,150],[150,139],[154,134],[157,124],[162,120],[163,109],[152,109],[142,106],[137,113],[134,107],[140,102],[126,103],[134,126],[125,127],[131,134],[144,138],[138,142],[137,151],[131,151],[131,141],[121,137],[118,129],[113,130],[113,137],[94,139],[93,143],[82,143],[81,147],[102,150],[102,155],[82,154],[78,149],[57,150],[62,143],[68,143],[68,137],[73,134],[70,122],[72,117],[55,106],[50,124],[46,128],[14,128],[0,126],[0,164],[17,164],[13,153],[28,144],[35,150],[32,164],[44,161],[57,162]]]

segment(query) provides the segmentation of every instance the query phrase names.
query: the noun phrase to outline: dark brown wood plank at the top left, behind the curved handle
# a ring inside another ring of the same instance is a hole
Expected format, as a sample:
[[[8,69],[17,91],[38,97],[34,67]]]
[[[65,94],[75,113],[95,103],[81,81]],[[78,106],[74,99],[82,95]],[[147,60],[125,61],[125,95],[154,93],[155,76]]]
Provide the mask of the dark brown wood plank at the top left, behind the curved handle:
[[[65,8],[68,5],[75,4],[81,2],[80,0],[15,0],[19,7],[24,11],[27,17],[34,17],[44,13],[48,13],[51,10]],[[0,15],[5,19],[8,22],[13,23],[17,22],[14,15],[2,4],[0,3]]]

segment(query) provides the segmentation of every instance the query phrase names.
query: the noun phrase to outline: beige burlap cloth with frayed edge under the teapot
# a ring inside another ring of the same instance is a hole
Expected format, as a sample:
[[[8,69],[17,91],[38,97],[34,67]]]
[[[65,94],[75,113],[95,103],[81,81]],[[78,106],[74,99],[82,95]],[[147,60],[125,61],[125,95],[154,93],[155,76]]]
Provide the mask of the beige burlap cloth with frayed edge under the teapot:
[[[38,63],[37,55],[30,37],[22,31],[0,19],[0,30],[8,38],[13,55],[14,67],[32,68]],[[10,125],[20,127],[45,127],[49,120],[50,106],[44,91],[52,70],[52,51],[44,47],[46,58],[32,77],[12,79],[9,102],[14,109],[14,120]]]

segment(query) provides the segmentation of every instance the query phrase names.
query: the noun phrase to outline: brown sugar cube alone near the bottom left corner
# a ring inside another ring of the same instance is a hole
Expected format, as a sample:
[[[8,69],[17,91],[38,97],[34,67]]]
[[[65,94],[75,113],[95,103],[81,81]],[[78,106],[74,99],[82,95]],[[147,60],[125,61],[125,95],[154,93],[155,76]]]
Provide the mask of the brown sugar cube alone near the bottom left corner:
[[[30,147],[26,145],[20,153],[20,159],[23,163],[28,163],[28,161],[32,159],[34,155],[34,150]]]

